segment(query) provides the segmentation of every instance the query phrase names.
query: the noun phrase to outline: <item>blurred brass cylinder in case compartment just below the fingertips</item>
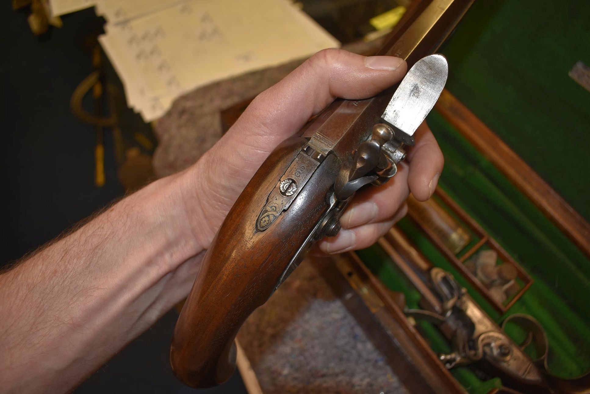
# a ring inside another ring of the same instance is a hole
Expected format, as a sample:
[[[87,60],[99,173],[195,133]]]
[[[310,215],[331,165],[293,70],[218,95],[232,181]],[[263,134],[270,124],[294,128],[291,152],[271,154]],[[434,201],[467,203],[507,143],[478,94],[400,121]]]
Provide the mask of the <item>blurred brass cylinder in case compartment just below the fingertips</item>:
[[[449,250],[458,254],[471,241],[470,235],[437,201],[421,202],[409,196],[408,209],[432,230]]]

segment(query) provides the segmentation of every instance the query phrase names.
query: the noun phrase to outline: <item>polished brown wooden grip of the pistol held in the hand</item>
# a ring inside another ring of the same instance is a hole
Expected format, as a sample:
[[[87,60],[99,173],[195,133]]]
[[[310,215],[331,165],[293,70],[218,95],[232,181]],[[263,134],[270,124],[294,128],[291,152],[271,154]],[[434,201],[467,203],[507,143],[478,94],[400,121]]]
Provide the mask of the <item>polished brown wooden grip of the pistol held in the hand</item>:
[[[327,210],[340,165],[328,155],[290,207],[265,230],[256,223],[270,191],[307,141],[293,137],[261,165],[231,208],[202,261],[176,323],[171,365],[183,382],[211,387],[235,368],[234,338],[273,293],[291,258]]]

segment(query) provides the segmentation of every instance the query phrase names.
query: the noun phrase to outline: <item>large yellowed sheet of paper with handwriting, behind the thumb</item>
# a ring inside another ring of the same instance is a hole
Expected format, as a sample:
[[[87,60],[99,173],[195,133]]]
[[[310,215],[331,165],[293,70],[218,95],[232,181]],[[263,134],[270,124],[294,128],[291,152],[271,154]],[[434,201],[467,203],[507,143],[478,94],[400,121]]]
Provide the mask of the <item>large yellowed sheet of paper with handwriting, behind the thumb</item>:
[[[123,2],[137,6],[135,0]],[[110,3],[101,0],[99,9]],[[109,23],[100,38],[125,85],[128,104],[146,121],[160,117],[174,98],[196,87],[339,46],[286,0],[171,3]]]

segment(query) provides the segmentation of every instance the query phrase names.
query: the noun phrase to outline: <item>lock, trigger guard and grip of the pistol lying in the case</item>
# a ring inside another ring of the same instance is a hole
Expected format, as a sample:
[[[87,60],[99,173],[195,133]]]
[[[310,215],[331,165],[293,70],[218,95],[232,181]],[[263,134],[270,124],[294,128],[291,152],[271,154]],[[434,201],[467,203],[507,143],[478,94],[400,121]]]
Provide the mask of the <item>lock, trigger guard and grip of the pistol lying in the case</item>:
[[[405,313],[439,325],[451,340],[453,352],[439,355],[447,369],[475,364],[490,376],[499,376],[504,385],[524,393],[590,393],[590,372],[566,379],[549,371],[549,340],[534,317],[515,313],[506,317],[500,327],[451,273],[432,267],[428,276],[432,290],[442,301],[440,314],[420,309],[406,309]],[[526,332],[525,341],[514,342],[506,334],[507,325]],[[535,359],[525,351],[529,346],[535,349]]]

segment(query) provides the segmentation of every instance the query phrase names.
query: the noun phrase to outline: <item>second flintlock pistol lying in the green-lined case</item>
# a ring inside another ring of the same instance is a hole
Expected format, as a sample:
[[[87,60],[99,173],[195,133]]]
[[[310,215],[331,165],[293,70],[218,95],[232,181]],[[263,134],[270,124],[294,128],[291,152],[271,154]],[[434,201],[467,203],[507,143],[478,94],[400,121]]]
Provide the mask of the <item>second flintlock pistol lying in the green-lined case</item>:
[[[549,340],[534,317],[510,314],[499,326],[453,274],[433,266],[397,227],[378,242],[422,295],[419,304],[424,309],[405,307],[406,316],[434,323],[451,342],[453,351],[438,355],[447,369],[474,365],[488,376],[499,377],[514,393],[590,393],[590,372],[573,379],[550,372]],[[508,326],[526,333],[525,340],[516,343],[506,333]],[[536,357],[529,356],[527,349],[534,349]]]

